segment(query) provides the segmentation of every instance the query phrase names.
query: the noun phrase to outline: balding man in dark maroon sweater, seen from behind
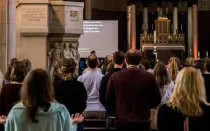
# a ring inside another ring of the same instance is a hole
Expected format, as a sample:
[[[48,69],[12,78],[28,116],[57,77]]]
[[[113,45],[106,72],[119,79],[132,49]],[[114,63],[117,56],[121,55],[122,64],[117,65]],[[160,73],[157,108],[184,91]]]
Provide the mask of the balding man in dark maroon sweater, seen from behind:
[[[128,68],[109,80],[107,110],[113,109],[114,101],[117,131],[150,131],[150,109],[161,102],[159,87],[151,73],[138,69],[139,51],[129,50],[125,58]]]

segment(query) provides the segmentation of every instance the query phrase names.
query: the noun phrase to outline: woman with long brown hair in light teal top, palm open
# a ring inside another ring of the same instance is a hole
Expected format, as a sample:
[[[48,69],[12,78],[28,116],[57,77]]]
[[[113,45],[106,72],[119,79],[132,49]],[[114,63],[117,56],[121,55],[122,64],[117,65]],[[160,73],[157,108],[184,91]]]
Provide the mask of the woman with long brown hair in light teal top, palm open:
[[[49,74],[43,69],[31,71],[21,89],[21,101],[10,111],[5,131],[76,131],[77,122],[71,119],[65,106],[57,103]]]

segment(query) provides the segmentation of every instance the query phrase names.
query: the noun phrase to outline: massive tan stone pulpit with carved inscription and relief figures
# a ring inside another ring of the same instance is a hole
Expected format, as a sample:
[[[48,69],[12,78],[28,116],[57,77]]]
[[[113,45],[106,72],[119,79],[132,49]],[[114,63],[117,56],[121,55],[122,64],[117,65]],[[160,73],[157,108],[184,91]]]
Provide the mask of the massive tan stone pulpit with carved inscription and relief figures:
[[[79,63],[83,10],[83,2],[18,0],[18,59],[27,58],[33,68],[49,69],[51,75],[59,71],[63,58],[70,57]]]

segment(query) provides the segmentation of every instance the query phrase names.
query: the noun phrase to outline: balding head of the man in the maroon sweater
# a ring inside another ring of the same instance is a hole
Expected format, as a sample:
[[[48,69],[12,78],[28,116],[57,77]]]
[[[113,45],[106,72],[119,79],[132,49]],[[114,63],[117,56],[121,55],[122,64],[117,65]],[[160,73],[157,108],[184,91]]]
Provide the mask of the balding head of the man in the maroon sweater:
[[[141,52],[135,49],[130,49],[125,54],[126,63],[128,65],[139,65],[141,62]]]

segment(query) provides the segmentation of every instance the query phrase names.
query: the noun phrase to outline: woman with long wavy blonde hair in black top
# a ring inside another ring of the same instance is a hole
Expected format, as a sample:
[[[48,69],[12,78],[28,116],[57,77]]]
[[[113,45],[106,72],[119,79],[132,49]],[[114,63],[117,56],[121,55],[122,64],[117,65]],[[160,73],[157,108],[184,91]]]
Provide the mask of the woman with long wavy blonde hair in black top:
[[[204,80],[200,70],[184,68],[177,76],[171,99],[158,111],[158,131],[184,131],[189,118],[189,131],[210,130],[210,107],[206,101]]]

